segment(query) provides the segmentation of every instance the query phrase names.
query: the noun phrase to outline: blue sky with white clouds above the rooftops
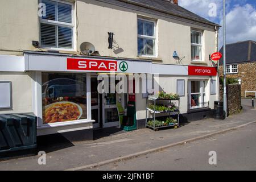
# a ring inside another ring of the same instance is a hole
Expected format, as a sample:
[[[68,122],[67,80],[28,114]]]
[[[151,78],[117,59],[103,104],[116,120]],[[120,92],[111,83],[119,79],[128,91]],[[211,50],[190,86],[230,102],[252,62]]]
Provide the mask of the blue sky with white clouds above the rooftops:
[[[214,4],[212,4],[214,3]],[[179,5],[222,26],[222,0],[179,0]],[[216,5],[216,16],[210,16],[210,6]],[[220,29],[219,47],[223,45]],[[256,41],[256,0],[226,0],[226,41]]]

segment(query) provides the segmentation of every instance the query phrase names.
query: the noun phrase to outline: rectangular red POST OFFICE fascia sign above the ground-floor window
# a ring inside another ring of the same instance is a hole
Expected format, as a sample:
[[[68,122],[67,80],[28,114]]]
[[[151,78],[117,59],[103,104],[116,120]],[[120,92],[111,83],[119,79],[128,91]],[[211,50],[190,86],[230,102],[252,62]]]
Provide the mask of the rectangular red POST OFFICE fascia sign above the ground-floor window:
[[[216,67],[197,67],[197,66],[188,66],[188,75],[195,76],[216,76],[217,68]]]

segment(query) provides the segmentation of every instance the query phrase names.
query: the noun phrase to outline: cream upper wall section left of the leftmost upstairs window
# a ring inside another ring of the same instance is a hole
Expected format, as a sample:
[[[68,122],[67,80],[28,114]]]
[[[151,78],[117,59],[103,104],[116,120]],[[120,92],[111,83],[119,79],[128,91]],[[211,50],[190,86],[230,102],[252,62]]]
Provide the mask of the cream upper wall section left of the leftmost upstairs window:
[[[6,50],[34,50],[32,40],[39,40],[38,1],[0,1],[0,54]],[[22,52],[9,52],[9,54]]]

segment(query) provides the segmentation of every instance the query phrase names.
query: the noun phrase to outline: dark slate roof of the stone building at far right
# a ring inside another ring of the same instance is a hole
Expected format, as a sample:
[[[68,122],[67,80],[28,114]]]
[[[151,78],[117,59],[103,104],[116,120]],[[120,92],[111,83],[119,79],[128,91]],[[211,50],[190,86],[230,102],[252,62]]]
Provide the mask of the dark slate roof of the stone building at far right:
[[[223,46],[220,49],[223,53]],[[249,61],[256,61],[256,42],[253,40],[246,40],[226,45],[226,64],[246,63]],[[220,60],[223,64],[223,57]]]

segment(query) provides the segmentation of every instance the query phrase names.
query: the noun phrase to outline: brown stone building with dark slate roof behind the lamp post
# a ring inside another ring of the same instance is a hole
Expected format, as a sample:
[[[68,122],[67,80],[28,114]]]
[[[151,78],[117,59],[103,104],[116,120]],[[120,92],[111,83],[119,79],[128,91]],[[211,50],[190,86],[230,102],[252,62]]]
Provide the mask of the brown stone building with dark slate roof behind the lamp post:
[[[223,52],[223,47],[220,49]],[[220,76],[223,77],[223,59],[220,60]],[[235,78],[241,84],[241,96],[256,94],[256,42],[246,40],[226,45],[226,77]]]

